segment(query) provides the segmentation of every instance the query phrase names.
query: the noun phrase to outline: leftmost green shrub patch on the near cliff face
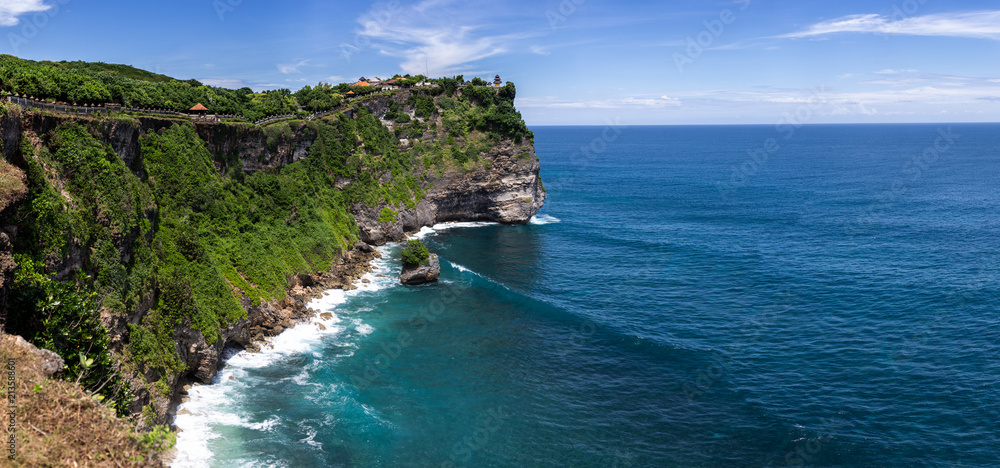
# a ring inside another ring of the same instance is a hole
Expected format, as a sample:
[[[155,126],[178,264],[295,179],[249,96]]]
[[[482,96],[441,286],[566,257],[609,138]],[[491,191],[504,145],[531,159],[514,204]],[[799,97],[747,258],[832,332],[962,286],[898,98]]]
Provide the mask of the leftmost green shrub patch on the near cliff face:
[[[28,220],[23,238],[35,242],[19,251],[39,264],[90,252],[83,267],[100,285],[100,305],[135,308],[153,269],[149,188],[82,126],[64,125],[46,139],[37,155],[27,139],[22,148],[29,184],[29,202],[20,207]]]

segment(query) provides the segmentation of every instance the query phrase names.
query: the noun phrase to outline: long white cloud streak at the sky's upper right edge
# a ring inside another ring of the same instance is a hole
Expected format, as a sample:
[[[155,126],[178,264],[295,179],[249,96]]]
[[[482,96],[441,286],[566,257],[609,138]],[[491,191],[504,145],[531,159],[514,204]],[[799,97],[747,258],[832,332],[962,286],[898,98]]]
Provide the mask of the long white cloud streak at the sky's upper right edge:
[[[779,37],[804,38],[852,32],[1000,40],[1000,11],[940,13],[902,19],[877,14],[849,15]]]

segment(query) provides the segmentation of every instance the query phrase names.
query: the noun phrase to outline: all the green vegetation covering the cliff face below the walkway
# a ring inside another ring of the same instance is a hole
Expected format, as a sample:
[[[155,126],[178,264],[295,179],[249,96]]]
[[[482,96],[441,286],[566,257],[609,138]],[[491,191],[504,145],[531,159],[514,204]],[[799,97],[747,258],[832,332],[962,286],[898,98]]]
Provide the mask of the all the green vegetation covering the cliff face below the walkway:
[[[107,367],[98,310],[126,314],[152,304],[128,325],[126,352],[161,376],[157,390],[168,391],[166,376],[188,370],[174,351],[177,327],[217,342],[220,330],[245,315],[241,297],[280,299],[289,276],[328,270],[358,240],[351,205],[412,208],[423,197],[414,157],[400,152],[395,136],[364,109],[354,119],[266,129],[273,144],[296,132],[315,141],[304,160],[246,177],[240,170],[220,174],[190,123],[141,136],[143,177],[93,136],[99,122],[89,125],[55,128],[37,152],[24,139],[28,194],[18,218],[26,232],[16,247],[23,252],[13,287],[19,313],[8,329],[77,365],[74,377],[111,382],[103,391],[122,410],[130,395]],[[240,164],[220,158],[226,166]],[[391,180],[380,183],[383,174]],[[336,177],[353,182],[340,190]],[[386,208],[380,218],[393,222],[397,215]],[[80,259],[78,270],[61,266],[69,258]],[[55,281],[56,272],[77,279]],[[80,335],[60,335],[64,327]]]

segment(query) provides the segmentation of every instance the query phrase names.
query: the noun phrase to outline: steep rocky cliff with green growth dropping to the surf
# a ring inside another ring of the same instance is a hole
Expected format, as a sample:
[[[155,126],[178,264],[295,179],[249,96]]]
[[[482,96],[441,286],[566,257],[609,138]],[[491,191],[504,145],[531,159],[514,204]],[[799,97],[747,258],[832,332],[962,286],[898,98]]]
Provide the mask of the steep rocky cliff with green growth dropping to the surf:
[[[73,356],[67,372],[104,382],[120,415],[169,422],[224,348],[255,349],[323,290],[352,287],[376,255],[367,244],[537,213],[532,137],[500,108],[509,87],[495,102],[379,95],[266,128],[5,106],[7,332]],[[78,334],[53,339],[73,320]],[[90,367],[75,361],[84,336],[98,345],[85,350]]]

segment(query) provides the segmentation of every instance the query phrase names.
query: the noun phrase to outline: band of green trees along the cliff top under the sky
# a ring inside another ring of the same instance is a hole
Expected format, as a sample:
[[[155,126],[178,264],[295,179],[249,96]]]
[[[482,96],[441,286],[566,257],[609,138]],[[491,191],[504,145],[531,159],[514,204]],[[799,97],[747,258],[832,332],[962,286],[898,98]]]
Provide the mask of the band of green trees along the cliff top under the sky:
[[[424,76],[396,76],[397,85],[412,86]],[[418,117],[428,119],[443,111],[454,111],[456,95],[464,84],[463,77],[433,80],[438,86],[412,93],[406,104]],[[533,138],[514,109],[516,90],[508,82],[499,89],[477,86],[486,82],[475,78],[473,86],[461,89],[459,101],[477,106],[483,112],[468,121],[470,129],[493,133],[520,142]],[[197,80],[177,80],[126,65],[86,62],[35,62],[10,55],[0,55],[0,87],[4,91],[32,96],[36,99],[76,104],[118,103],[127,107],[185,111],[201,103],[218,114],[241,116],[251,121],[268,115],[294,114],[337,109],[344,105],[345,95],[353,91],[362,97],[381,92],[377,86],[353,86],[347,83],[319,83],[299,91],[277,89],[255,93],[249,88],[225,89],[206,86]],[[435,97],[444,94],[438,102]],[[390,109],[386,118],[405,124],[398,106]],[[270,143],[270,141],[269,141]]]

